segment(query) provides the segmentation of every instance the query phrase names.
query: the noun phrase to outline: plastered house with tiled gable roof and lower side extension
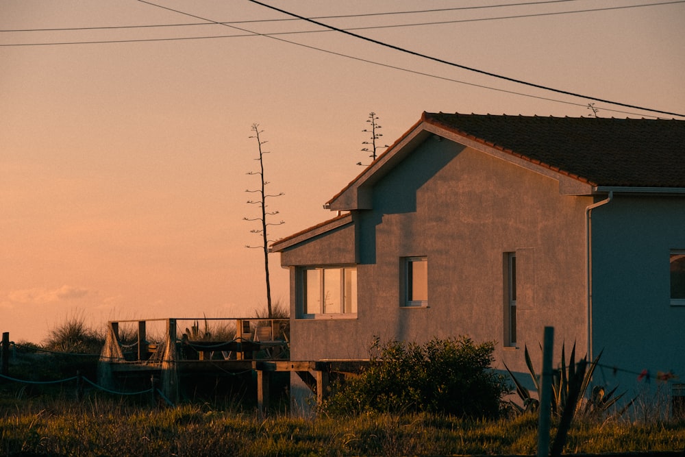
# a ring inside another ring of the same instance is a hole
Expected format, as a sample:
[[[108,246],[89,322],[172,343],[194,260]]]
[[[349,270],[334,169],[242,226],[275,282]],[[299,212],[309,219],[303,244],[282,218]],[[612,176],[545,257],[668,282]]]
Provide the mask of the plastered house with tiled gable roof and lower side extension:
[[[292,360],[468,335],[527,372],[553,326],[595,382],[685,382],[685,121],[425,112],[325,206],[271,247]]]

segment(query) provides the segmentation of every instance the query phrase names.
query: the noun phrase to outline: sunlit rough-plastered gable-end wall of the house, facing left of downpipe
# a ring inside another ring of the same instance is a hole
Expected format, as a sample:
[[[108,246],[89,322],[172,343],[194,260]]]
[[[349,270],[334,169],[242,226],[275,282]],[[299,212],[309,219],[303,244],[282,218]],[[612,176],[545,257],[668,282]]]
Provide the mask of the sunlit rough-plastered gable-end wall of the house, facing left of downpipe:
[[[423,342],[464,335],[497,341],[496,366],[525,371],[523,346],[539,367],[545,325],[556,328],[558,347],[575,341],[583,354],[585,208],[592,202],[560,195],[549,177],[428,138],[375,184],[373,210],[354,214],[357,319],[295,319],[293,360],[365,358],[373,336]],[[503,347],[504,253],[511,251],[519,267],[519,349]],[[427,256],[427,308],[401,308],[406,256]],[[295,279],[293,269],[292,311]]]

